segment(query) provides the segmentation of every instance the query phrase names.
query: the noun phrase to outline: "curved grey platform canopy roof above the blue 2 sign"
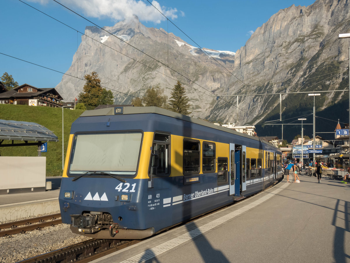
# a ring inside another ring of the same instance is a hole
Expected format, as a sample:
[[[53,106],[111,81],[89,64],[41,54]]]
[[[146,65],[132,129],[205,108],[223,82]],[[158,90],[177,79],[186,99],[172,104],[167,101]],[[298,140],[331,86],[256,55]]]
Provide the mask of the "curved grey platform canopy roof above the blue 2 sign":
[[[58,142],[58,137],[34,122],[0,120],[0,140]]]

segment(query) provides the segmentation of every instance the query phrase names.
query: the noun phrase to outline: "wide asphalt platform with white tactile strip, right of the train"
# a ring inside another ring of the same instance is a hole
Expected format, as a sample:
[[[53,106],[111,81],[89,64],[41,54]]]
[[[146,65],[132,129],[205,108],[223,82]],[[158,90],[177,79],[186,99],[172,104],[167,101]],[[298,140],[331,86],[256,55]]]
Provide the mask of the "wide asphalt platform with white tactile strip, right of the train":
[[[350,183],[299,177],[93,262],[350,262]]]

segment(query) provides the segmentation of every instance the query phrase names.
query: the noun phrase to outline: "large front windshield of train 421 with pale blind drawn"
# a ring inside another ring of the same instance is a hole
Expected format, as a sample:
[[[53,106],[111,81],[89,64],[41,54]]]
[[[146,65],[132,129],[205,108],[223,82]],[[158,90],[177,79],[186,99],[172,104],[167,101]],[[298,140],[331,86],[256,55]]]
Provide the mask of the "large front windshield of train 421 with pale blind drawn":
[[[141,140],[141,132],[77,134],[73,139],[69,174],[104,171],[135,175]]]

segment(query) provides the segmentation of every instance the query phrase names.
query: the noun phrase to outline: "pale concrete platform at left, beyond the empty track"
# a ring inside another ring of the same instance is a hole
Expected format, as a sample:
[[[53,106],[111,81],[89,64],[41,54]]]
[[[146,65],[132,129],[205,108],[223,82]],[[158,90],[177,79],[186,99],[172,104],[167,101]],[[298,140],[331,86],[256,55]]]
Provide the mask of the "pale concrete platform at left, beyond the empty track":
[[[59,211],[58,195],[62,177],[46,177],[46,181],[51,182],[51,190],[0,195],[0,223]]]

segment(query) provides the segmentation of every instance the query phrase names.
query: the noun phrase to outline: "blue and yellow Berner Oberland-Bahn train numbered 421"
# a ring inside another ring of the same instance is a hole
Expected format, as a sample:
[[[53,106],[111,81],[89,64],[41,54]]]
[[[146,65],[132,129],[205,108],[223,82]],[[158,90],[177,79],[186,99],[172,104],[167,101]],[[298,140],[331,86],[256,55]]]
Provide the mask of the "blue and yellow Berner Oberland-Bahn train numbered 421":
[[[141,239],[282,177],[281,151],[157,107],[85,111],[71,127],[62,222],[94,238]]]

